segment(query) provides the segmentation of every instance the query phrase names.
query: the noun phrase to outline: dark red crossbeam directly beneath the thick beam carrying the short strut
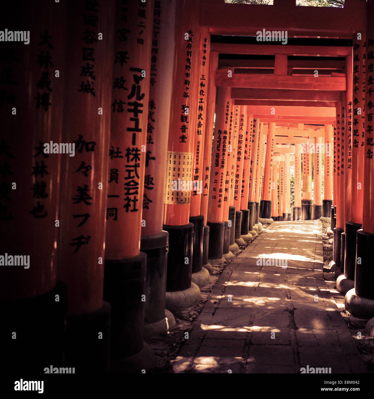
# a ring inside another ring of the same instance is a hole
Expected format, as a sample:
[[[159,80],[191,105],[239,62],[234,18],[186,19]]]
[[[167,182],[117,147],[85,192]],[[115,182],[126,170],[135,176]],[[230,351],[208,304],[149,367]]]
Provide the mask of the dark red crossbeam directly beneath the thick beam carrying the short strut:
[[[317,79],[317,78],[315,78]],[[249,100],[292,100],[292,101],[340,101],[338,91],[319,90],[277,90],[277,89],[243,89],[233,87],[231,98]],[[235,102],[236,104],[236,102]]]

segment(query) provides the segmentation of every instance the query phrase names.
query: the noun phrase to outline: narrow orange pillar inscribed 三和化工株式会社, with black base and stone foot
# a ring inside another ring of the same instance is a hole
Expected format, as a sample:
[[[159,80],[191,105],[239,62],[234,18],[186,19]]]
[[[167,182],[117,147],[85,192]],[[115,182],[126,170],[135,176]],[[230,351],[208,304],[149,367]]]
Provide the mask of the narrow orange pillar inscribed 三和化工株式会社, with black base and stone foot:
[[[194,131],[194,169],[192,173],[192,195],[190,203],[190,219],[194,224],[194,243],[192,249],[192,282],[203,287],[209,282],[209,272],[203,268],[204,215],[200,214],[202,193],[202,166],[204,154],[204,134],[207,114],[207,89],[209,75],[210,34],[208,27],[201,28],[199,53],[199,87],[198,105],[196,109],[196,129]]]

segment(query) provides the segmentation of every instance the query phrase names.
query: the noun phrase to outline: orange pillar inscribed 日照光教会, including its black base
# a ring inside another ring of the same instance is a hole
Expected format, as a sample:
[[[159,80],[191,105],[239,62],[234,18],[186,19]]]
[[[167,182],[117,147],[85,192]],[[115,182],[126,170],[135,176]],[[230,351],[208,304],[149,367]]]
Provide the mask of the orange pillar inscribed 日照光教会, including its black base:
[[[247,106],[237,106],[234,113],[234,135],[237,132],[237,145],[235,159],[235,180],[234,180],[234,196],[233,206],[235,206],[235,243],[243,245],[244,240],[241,238],[241,220],[242,212],[240,210],[241,198],[241,180],[243,176],[243,141],[245,140],[245,130],[243,130],[244,122],[247,124],[247,119],[244,118],[247,112]],[[243,139],[244,137],[244,139]]]

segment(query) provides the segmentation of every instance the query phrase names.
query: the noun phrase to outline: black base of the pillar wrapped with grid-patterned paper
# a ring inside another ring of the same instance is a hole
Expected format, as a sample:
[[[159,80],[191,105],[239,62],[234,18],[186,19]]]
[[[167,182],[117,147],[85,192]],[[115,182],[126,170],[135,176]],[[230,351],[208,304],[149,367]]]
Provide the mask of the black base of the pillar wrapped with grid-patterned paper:
[[[166,291],[186,290],[191,286],[194,225],[164,225],[163,229],[169,233]]]

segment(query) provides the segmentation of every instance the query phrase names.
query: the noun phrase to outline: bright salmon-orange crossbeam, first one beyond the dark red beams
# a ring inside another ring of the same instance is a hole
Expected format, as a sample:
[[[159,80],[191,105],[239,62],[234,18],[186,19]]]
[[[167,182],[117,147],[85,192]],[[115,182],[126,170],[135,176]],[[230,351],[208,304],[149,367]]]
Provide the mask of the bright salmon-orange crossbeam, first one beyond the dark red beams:
[[[264,114],[272,116],[272,112],[277,116],[313,116],[313,117],[331,117],[335,118],[336,111],[328,107],[265,107],[263,105],[252,105],[247,108],[248,114]]]

